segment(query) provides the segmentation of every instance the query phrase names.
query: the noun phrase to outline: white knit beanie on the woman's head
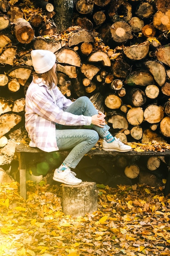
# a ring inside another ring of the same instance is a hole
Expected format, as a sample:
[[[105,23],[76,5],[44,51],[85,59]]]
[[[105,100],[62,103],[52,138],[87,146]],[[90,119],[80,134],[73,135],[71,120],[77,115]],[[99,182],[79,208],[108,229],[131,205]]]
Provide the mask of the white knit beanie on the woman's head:
[[[34,70],[38,74],[51,70],[56,62],[56,55],[47,50],[32,50],[31,58]]]

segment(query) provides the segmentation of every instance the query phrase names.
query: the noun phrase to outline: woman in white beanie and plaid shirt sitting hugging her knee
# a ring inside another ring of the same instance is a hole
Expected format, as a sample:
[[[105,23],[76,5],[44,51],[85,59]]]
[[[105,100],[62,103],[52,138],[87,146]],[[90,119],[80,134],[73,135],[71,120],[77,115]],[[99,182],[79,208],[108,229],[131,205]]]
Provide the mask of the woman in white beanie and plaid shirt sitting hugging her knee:
[[[25,127],[29,146],[46,152],[71,149],[53,179],[65,184],[80,184],[76,168],[82,157],[103,138],[103,150],[126,152],[132,148],[113,137],[105,115],[94,108],[88,97],[72,102],[57,87],[56,56],[47,50],[32,50],[33,81],[26,93]]]

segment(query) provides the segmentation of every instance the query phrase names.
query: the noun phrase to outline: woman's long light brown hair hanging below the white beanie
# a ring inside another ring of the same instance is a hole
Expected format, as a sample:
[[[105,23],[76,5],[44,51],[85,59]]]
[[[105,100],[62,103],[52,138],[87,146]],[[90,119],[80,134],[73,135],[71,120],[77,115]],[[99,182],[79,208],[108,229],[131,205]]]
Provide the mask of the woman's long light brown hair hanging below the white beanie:
[[[42,78],[42,80],[44,80],[45,84],[48,86],[49,90],[57,86],[57,75],[53,67],[51,68],[51,70],[42,74],[37,74],[36,72],[33,72],[33,76],[34,83],[36,83],[36,79]]]

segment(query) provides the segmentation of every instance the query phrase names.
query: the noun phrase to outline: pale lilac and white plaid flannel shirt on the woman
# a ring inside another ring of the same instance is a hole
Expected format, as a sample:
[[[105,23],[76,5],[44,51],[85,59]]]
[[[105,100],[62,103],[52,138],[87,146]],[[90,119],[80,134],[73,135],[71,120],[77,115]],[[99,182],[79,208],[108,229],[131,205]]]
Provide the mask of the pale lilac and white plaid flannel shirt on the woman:
[[[36,83],[31,82],[25,101],[25,128],[31,139],[29,146],[46,152],[58,150],[56,123],[89,126],[92,122],[92,117],[65,112],[72,101],[67,99],[57,86],[49,90],[42,79],[38,79]]]

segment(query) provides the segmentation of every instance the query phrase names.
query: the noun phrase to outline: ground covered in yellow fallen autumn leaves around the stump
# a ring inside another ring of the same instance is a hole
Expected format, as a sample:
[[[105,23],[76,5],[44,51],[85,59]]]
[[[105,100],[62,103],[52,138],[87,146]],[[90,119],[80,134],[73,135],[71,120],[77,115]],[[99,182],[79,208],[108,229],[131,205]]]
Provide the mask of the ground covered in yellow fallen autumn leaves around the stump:
[[[98,185],[98,210],[62,212],[60,187],[0,184],[0,256],[170,255],[170,199],[163,188]]]

